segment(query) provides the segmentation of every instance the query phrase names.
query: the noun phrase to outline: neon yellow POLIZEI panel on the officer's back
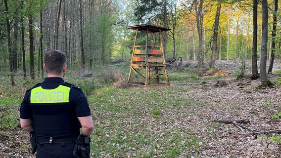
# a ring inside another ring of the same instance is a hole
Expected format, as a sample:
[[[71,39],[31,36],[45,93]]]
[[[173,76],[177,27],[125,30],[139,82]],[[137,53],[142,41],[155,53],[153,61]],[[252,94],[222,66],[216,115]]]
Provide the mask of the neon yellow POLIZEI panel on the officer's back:
[[[70,87],[59,85],[55,89],[41,86],[31,90],[30,103],[68,103]]]

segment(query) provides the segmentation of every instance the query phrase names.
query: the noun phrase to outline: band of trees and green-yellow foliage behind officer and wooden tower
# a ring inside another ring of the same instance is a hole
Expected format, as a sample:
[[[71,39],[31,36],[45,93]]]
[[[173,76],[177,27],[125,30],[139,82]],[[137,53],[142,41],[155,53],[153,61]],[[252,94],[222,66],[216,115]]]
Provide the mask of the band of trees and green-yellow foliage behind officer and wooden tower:
[[[163,33],[166,59],[182,57],[197,62],[199,67],[204,63],[215,67],[216,60],[249,59],[253,62],[254,76],[258,76],[256,60],[260,60],[261,78],[268,80],[266,72],[272,72],[274,59],[279,58],[277,0],[1,0],[0,3],[0,70],[9,71],[12,85],[18,71],[23,72],[24,78],[29,75],[34,79],[36,74],[43,77],[43,54],[47,49],[65,52],[71,69],[91,70],[112,61],[128,61],[134,32],[126,27],[139,24],[171,29]]]

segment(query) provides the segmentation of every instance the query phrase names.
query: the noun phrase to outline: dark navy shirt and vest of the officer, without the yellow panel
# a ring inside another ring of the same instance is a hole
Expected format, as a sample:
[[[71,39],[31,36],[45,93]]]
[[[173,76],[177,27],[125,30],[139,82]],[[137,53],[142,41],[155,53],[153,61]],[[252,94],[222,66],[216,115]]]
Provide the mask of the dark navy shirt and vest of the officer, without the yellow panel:
[[[53,103],[45,104],[45,106],[44,104],[31,104],[30,96],[32,88],[27,90],[23,98],[20,108],[20,118],[32,119],[33,129],[35,130],[35,133],[37,129],[38,133],[40,133],[39,135],[76,135],[81,127],[77,117],[91,116],[88,100],[79,87],[64,83],[62,78],[45,78],[44,82],[41,83],[41,87],[43,89],[54,89],[62,83],[71,87],[69,92],[69,103]],[[36,120],[33,120],[34,118],[36,118]],[[57,131],[55,131],[56,129]]]

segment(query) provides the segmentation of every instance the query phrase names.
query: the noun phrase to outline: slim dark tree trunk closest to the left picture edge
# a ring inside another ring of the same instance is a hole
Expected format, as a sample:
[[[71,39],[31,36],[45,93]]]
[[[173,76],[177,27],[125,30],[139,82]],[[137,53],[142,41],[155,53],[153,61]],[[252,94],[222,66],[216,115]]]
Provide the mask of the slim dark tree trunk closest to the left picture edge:
[[[5,11],[8,13],[8,2],[7,0],[4,0],[5,3]],[[11,48],[11,34],[10,34],[10,22],[8,16],[6,16],[6,29],[7,29],[7,36],[8,36],[8,51],[9,51],[9,66],[10,66],[10,76],[11,76],[11,85],[15,85],[14,81],[14,71],[13,71],[13,65],[12,65],[12,59],[13,59],[13,54],[12,54],[12,48]]]

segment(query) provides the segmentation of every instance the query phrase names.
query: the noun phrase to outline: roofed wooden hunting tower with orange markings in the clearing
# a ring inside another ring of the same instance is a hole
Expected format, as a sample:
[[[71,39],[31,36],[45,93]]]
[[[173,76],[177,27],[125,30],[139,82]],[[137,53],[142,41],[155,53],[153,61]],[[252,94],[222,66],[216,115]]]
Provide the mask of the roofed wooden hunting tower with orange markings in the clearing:
[[[161,79],[166,80],[166,84],[170,84],[163,51],[161,32],[169,31],[171,29],[146,24],[128,26],[127,29],[136,30],[128,82],[130,83],[131,74],[132,71],[134,71],[137,75],[141,76],[145,85],[153,81],[156,83],[161,83]],[[146,33],[145,45],[136,45],[139,31]],[[157,43],[157,45],[150,44],[153,42],[149,41],[149,36],[152,36],[156,33],[159,34],[160,43]]]

